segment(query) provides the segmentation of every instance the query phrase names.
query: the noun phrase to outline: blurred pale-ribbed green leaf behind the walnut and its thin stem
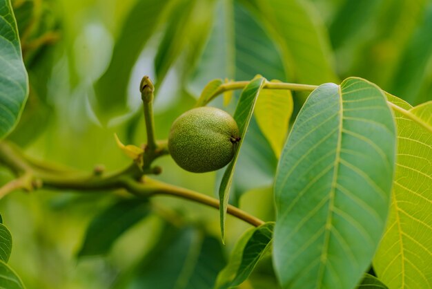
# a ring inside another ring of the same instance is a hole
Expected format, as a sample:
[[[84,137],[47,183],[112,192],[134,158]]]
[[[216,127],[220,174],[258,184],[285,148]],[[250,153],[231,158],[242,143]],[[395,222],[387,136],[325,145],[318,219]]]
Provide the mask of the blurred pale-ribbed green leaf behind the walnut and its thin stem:
[[[188,89],[199,94],[214,78],[250,80],[257,73],[286,80],[279,50],[262,23],[238,1],[218,1],[215,23]],[[254,49],[251,49],[254,47]],[[277,159],[254,119],[237,160],[230,202],[235,205],[243,192],[273,183]],[[218,171],[218,179],[222,178]],[[245,177],[246,176],[246,177]]]

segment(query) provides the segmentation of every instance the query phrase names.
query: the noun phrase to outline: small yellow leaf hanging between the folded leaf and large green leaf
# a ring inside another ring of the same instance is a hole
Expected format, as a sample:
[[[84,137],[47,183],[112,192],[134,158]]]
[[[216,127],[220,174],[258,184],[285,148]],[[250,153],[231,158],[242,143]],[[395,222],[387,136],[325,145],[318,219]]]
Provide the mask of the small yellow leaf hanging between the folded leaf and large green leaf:
[[[272,80],[272,82],[279,81]],[[277,158],[282,153],[291,113],[293,113],[291,91],[263,89],[259,93],[255,118]]]

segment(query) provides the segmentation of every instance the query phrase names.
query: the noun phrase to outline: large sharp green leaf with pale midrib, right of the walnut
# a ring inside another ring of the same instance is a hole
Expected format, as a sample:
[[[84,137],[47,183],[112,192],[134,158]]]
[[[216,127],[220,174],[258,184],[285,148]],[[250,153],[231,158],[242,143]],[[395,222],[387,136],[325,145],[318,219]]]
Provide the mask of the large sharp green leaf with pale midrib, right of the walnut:
[[[393,115],[371,82],[351,77],[311,93],[275,180],[273,258],[283,288],[357,285],[384,231],[395,142]]]

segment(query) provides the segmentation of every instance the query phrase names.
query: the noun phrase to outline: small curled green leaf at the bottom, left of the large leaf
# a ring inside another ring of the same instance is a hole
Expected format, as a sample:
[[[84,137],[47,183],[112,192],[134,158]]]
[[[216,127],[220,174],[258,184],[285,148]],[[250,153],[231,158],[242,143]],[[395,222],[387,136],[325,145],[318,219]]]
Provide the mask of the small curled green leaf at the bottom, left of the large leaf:
[[[270,251],[275,223],[265,223],[246,231],[237,241],[230,261],[219,273],[215,288],[239,286],[251,274],[258,261]]]

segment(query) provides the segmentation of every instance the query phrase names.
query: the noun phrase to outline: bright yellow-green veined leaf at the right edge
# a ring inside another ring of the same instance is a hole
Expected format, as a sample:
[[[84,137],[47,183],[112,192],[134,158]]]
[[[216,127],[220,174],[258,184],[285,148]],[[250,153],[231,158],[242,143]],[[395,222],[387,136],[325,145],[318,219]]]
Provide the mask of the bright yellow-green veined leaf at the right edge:
[[[393,197],[374,268],[389,288],[432,288],[432,102],[411,108],[388,97],[408,115],[395,111]]]

